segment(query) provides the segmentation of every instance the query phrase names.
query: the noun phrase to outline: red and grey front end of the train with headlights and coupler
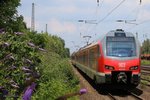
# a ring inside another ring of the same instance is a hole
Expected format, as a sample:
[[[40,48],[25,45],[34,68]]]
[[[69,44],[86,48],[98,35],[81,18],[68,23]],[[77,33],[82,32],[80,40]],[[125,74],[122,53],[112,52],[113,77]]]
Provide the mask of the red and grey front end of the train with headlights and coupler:
[[[125,83],[137,86],[140,82],[140,45],[132,33],[117,30],[109,32],[103,43],[101,69],[106,83]]]

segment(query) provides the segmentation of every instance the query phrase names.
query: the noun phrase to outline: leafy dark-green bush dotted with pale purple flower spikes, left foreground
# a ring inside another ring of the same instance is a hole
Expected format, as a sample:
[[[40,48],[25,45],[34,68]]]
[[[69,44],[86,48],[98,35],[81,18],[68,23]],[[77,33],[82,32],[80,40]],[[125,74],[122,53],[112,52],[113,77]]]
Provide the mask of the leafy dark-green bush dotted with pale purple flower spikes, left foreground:
[[[0,86],[11,95],[20,95],[26,79],[39,72],[39,53],[37,48],[28,45],[29,41],[25,33],[0,34]],[[27,59],[32,63],[28,63]],[[31,75],[26,75],[24,68],[32,71]]]

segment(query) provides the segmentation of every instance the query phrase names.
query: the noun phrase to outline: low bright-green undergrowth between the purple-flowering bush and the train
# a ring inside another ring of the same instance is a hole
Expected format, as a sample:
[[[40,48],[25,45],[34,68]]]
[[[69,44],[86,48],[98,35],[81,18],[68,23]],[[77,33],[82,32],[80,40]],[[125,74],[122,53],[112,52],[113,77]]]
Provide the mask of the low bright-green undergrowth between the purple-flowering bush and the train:
[[[33,100],[55,100],[78,90],[78,79],[73,75],[68,59],[62,59],[54,52],[42,54],[42,76]]]

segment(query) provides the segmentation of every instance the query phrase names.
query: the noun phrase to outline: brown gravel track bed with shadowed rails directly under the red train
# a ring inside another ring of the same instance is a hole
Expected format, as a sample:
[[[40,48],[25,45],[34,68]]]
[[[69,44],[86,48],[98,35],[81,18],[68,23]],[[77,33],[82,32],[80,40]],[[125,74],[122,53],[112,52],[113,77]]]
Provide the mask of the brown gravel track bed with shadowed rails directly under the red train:
[[[128,90],[128,88],[125,88],[119,90],[114,88],[110,89],[109,87],[97,86],[80,70],[77,68],[74,68],[74,70],[80,74],[80,78],[84,78],[81,78],[81,81],[83,81],[81,86],[87,88],[88,90],[88,93],[81,96],[80,100],[148,100],[145,96],[143,96],[147,94],[145,94],[145,91],[141,89]]]

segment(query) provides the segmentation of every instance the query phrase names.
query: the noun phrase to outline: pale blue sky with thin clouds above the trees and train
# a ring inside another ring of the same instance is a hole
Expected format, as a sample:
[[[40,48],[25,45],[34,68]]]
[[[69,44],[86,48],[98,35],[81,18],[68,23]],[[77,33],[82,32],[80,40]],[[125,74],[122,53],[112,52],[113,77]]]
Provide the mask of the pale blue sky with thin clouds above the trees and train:
[[[35,30],[45,32],[47,24],[48,33],[64,39],[71,52],[120,28],[138,33],[141,43],[150,38],[150,0],[21,0],[18,14],[28,28],[32,3]]]

